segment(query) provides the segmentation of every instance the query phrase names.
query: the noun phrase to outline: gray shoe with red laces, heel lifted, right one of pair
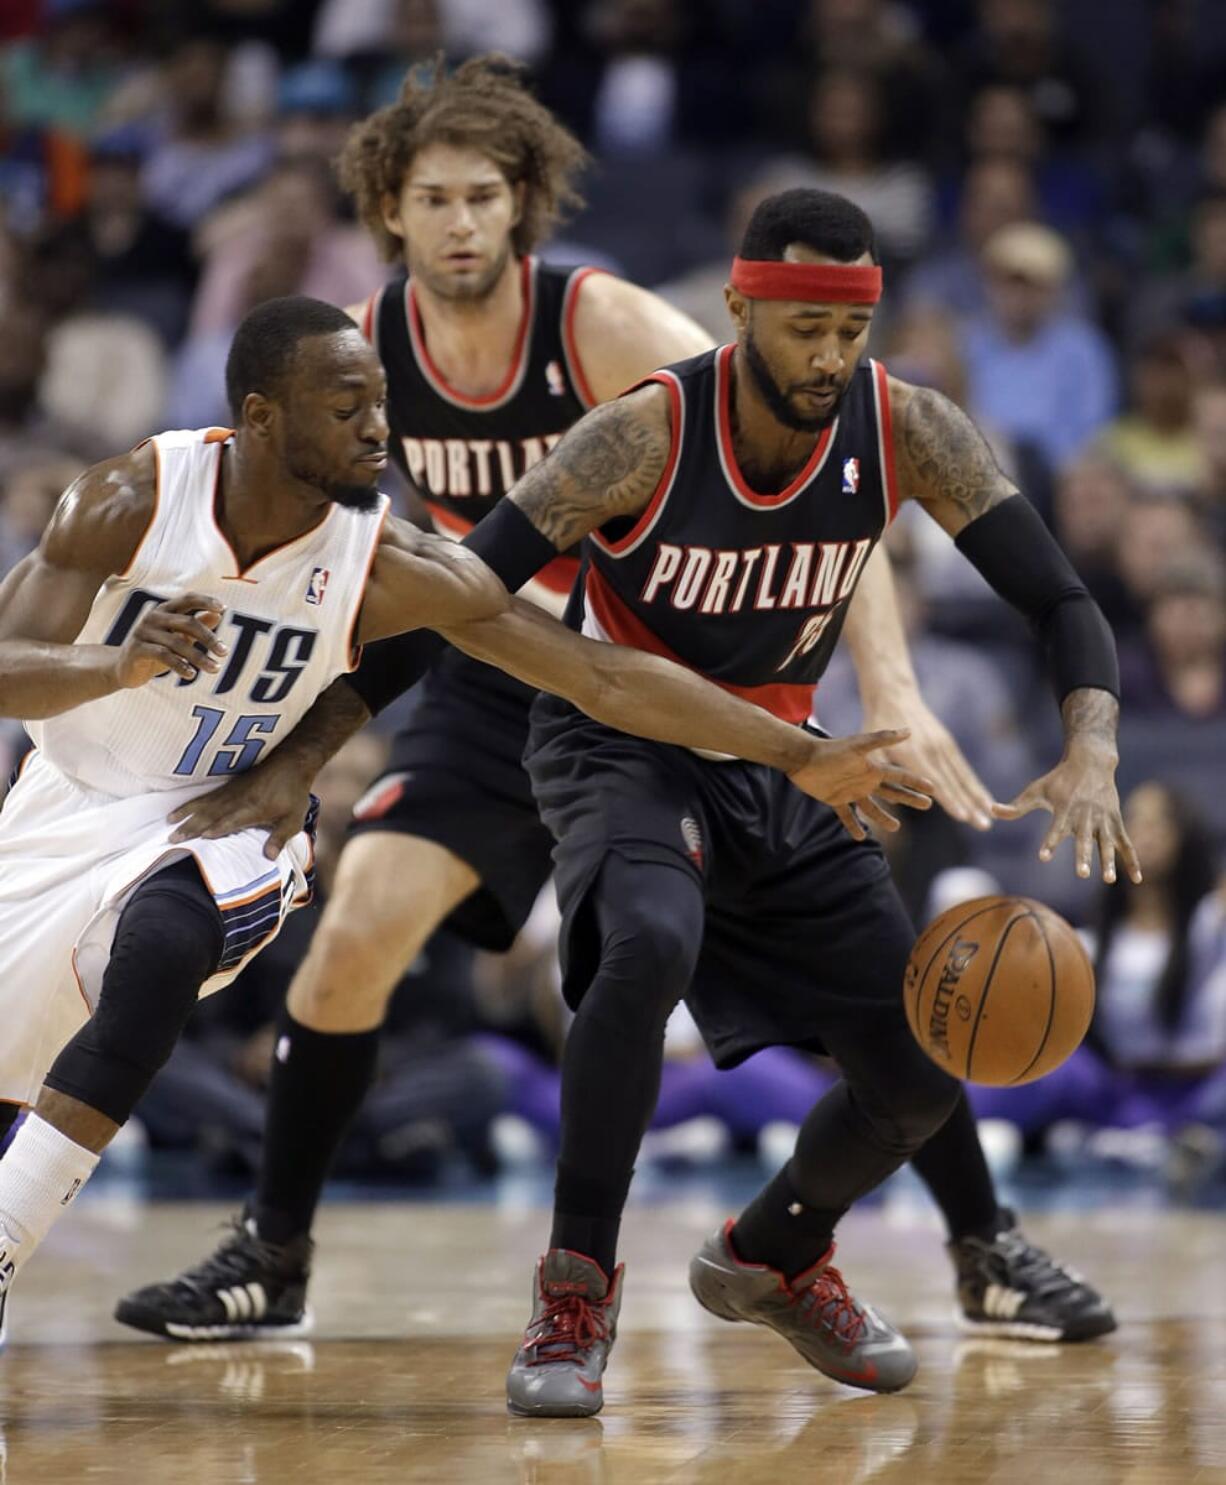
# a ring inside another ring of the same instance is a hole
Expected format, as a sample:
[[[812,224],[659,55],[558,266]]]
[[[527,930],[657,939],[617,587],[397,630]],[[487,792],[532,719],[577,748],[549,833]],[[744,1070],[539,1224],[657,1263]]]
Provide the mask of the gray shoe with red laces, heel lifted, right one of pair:
[[[778,1331],[810,1366],[849,1387],[898,1391],[916,1375],[907,1338],[861,1304],[830,1267],[833,1243],[812,1268],[788,1280],[778,1268],[742,1262],[732,1227],[729,1219],[690,1261],[690,1289],[704,1310]]]

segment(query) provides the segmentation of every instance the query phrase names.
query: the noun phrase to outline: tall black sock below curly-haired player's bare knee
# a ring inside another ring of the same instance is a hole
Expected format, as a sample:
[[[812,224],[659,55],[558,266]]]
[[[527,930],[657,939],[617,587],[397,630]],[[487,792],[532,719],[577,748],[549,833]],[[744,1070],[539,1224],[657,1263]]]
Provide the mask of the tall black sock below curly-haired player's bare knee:
[[[335,1152],[374,1081],[380,1029],[312,1031],[282,1007],[251,1204],[267,1241],[288,1243],[310,1231]]]

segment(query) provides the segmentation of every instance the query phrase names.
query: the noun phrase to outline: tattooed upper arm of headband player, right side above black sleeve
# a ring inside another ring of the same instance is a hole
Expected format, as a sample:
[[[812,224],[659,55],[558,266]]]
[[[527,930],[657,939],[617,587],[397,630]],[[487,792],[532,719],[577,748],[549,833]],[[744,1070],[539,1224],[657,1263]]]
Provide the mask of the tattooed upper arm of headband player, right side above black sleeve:
[[[911,468],[916,499],[931,506],[954,506],[960,526],[1017,495],[978,428],[960,407],[929,388],[908,389],[902,453]]]

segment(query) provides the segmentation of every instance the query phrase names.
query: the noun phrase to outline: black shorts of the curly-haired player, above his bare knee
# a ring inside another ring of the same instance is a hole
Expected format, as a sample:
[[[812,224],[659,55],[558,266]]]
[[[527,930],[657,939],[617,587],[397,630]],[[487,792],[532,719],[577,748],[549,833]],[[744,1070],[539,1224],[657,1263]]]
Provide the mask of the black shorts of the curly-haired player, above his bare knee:
[[[417,688],[387,769],[355,809],[350,833],[390,830],[445,846],[481,887],[447,919],[479,949],[509,949],[552,870],[524,772],[534,691],[447,650]]]

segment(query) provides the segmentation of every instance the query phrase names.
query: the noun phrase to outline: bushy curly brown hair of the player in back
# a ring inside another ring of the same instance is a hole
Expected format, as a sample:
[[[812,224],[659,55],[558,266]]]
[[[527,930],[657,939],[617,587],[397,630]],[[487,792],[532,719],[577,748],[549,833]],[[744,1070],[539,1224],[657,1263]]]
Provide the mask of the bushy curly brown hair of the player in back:
[[[524,187],[522,212],[511,232],[521,255],[567,209],[583,205],[574,187],[588,159],[583,146],[533,98],[524,68],[491,52],[448,76],[439,55],[430,74],[413,68],[396,102],[353,126],[338,162],[340,183],[389,263],[399,258],[401,239],[383,221],[383,198],[399,195],[413,157],[436,143],[479,150],[511,186]]]

